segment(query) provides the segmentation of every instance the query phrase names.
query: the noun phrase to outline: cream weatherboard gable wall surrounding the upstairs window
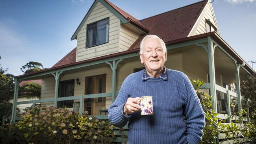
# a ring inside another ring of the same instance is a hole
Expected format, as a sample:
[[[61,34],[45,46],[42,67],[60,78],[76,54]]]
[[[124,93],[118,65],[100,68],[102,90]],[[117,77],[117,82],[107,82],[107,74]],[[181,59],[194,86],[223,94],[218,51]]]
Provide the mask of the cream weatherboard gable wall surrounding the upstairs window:
[[[104,18],[109,18],[108,43],[85,48],[87,24],[91,24]],[[76,62],[119,52],[119,30],[120,20],[100,2],[98,2],[83,27],[78,32]]]

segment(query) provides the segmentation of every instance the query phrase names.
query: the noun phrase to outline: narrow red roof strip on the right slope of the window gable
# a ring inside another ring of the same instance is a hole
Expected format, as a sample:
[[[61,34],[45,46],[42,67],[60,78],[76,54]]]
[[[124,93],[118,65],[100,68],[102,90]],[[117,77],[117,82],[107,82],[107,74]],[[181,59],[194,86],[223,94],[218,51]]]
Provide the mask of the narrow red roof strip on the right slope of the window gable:
[[[145,31],[149,31],[148,28],[143,24],[143,22],[137,20],[137,18],[132,17],[132,15],[126,13],[125,11],[123,11],[122,9],[120,9],[119,7],[115,6],[114,4],[112,4],[111,2],[109,2],[108,0],[105,0],[111,7],[113,7],[115,10],[117,10],[117,12],[119,12],[123,17],[125,17],[127,20],[129,20],[130,22],[132,22],[133,24],[139,26],[140,28],[142,28]]]

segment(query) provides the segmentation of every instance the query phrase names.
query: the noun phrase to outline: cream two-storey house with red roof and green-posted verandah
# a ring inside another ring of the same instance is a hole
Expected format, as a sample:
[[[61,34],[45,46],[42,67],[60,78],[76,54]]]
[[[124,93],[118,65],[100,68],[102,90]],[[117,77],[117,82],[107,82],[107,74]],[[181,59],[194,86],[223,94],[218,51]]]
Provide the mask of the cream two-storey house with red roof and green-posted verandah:
[[[15,77],[15,82],[42,79],[41,99],[17,102],[41,103],[91,115],[106,114],[124,79],[143,69],[139,44],[148,34],[165,41],[165,66],[205,82],[202,91],[214,96],[221,118],[231,114],[230,98],[242,103],[240,81],[255,71],[221,38],[213,7],[203,0],[159,15],[137,20],[108,0],[95,0],[71,40],[77,46],[52,68]],[[12,111],[11,122],[15,122]]]

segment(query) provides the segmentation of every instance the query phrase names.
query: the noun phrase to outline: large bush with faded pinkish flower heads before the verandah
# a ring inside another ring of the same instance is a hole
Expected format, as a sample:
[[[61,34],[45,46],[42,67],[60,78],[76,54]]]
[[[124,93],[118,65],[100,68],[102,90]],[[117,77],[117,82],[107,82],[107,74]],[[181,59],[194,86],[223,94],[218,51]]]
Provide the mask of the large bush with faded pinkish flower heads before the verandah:
[[[73,144],[75,141],[111,143],[116,133],[108,120],[78,115],[67,109],[37,105],[22,115],[17,126],[29,143]]]

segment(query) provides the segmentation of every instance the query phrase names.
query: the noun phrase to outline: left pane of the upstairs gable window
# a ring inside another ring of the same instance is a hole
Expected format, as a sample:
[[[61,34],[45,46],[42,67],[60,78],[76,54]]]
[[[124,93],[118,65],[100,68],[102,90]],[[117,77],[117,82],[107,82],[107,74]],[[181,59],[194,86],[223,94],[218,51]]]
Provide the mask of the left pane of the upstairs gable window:
[[[97,42],[97,23],[90,24],[87,31],[87,46],[96,45]]]

